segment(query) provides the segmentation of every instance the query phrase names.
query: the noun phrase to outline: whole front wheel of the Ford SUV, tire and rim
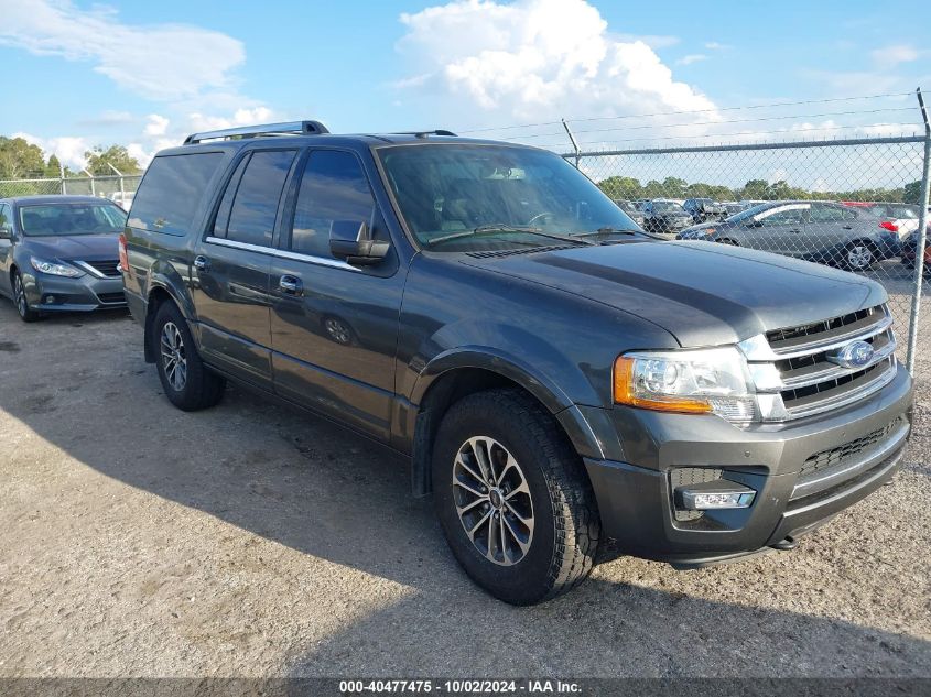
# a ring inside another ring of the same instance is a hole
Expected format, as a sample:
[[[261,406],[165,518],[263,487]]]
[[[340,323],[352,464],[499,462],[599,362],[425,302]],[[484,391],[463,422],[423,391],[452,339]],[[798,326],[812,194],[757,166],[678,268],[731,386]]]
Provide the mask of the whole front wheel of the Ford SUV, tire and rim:
[[[450,548],[496,598],[532,605],[591,573],[600,521],[578,455],[518,390],[473,394],[443,418],[433,500]]]

